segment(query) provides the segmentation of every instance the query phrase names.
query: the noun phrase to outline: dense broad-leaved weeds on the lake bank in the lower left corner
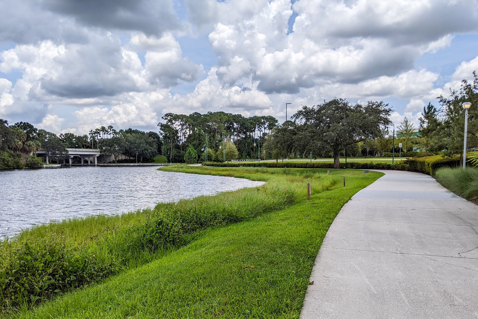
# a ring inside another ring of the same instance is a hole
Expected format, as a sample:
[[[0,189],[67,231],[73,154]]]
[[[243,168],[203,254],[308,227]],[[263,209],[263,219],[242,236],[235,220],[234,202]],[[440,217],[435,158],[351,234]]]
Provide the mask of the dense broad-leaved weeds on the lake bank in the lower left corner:
[[[95,253],[67,247],[55,234],[42,241],[0,242],[0,308],[35,303],[120,269],[118,263]]]

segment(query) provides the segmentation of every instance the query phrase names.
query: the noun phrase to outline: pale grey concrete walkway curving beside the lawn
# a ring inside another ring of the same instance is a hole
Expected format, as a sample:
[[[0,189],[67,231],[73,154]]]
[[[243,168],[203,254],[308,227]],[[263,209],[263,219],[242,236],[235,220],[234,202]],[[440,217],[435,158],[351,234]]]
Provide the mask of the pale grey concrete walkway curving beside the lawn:
[[[478,206],[430,176],[382,172],[327,232],[301,318],[478,318]]]

